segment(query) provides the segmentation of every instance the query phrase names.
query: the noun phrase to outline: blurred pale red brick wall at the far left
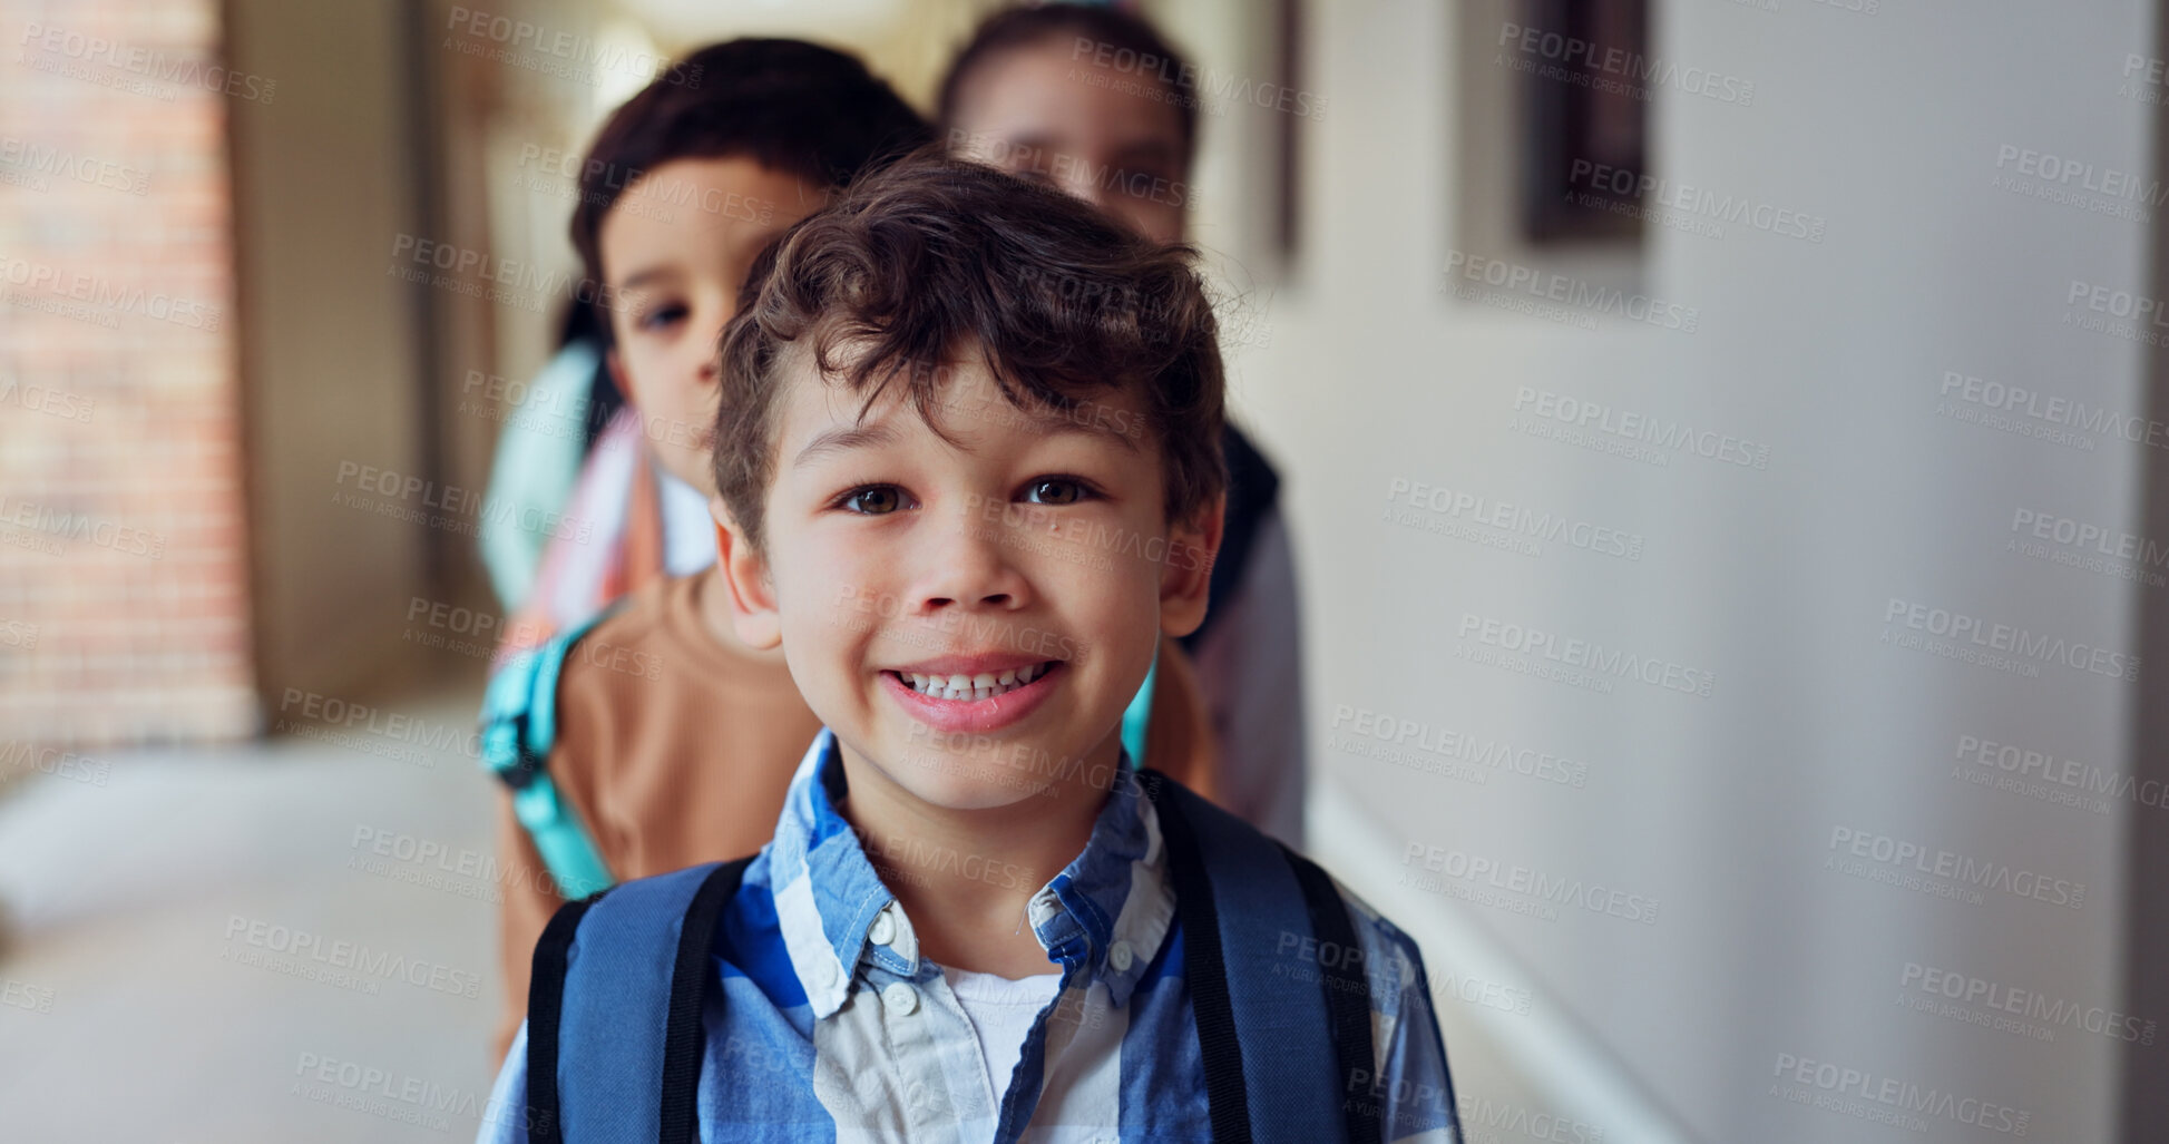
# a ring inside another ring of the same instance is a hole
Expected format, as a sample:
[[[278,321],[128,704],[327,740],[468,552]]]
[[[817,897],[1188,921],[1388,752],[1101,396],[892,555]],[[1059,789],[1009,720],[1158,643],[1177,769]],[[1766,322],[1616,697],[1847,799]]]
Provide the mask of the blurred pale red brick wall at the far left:
[[[236,100],[213,0],[0,0],[0,779],[256,727]]]

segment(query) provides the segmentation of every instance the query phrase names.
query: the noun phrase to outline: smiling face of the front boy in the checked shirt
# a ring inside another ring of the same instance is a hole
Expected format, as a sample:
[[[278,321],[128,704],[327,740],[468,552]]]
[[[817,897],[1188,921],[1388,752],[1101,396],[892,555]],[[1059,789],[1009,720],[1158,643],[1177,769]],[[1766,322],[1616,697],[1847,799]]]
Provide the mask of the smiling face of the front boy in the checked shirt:
[[[1160,632],[1204,619],[1221,525],[1169,530],[1139,399],[1032,415],[972,360],[935,406],[950,445],[900,382],[859,425],[805,349],[781,367],[766,556],[724,536],[740,636],[781,643],[846,760],[924,803],[1104,788]]]

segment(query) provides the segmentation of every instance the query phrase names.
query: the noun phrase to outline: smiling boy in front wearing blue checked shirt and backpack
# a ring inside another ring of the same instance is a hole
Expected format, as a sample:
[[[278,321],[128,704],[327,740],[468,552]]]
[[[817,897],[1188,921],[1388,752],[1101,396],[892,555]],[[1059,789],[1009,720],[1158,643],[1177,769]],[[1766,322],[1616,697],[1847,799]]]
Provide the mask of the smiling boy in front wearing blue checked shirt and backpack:
[[[1414,944],[1124,758],[1219,545],[1189,252],[922,156],[763,263],[722,569],[824,727],[750,862],[560,912],[484,1140],[1455,1140]]]

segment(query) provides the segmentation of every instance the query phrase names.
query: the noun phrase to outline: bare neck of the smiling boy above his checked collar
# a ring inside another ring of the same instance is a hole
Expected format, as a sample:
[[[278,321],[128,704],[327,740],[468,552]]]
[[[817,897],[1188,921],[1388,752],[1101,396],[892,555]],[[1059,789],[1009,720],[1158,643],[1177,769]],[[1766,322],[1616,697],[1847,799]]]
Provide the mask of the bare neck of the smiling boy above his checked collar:
[[[844,749],[850,792],[837,810],[911,918],[924,957],[998,977],[1054,973],[1026,907],[1091,840],[1108,788],[1089,786],[1087,775],[1113,775],[1119,747],[1108,734],[1093,751],[1106,755],[1102,766],[1076,766],[1054,779],[1052,795],[993,810],[933,805]],[[967,868],[980,875],[965,877]]]

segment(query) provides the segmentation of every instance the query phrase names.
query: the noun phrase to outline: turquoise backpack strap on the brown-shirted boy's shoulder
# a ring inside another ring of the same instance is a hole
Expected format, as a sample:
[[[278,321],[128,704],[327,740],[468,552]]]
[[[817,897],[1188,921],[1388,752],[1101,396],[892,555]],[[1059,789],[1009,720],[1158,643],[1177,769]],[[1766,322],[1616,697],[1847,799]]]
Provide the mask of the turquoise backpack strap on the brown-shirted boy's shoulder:
[[[536,853],[566,899],[607,890],[616,879],[579,814],[549,777],[557,742],[557,677],[564,658],[590,627],[618,610],[566,627],[534,651],[523,651],[490,677],[482,697],[482,766],[512,788],[512,814],[534,838]]]

